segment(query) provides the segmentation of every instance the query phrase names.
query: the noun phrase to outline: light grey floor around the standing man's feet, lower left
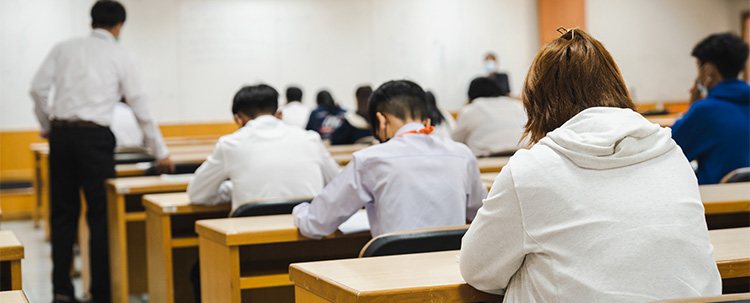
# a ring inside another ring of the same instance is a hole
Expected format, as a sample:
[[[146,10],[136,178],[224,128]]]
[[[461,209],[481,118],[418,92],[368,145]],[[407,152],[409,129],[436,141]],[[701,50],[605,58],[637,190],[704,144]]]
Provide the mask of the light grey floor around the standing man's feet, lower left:
[[[31,220],[3,221],[0,228],[12,230],[23,243],[24,259],[21,261],[21,272],[23,275],[23,291],[29,298],[29,302],[47,303],[52,302],[52,257],[51,245],[44,240],[44,230],[34,229]],[[80,268],[80,258],[76,256],[76,268]],[[73,279],[76,289],[76,297],[83,297],[81,279]],[[130,297],[130,303],[142,303],[137,296]]]

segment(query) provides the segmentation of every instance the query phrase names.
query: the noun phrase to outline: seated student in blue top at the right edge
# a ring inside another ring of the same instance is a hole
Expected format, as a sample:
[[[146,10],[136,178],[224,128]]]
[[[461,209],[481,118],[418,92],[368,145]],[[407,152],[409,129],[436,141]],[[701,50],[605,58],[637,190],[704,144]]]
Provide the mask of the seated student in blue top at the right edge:
[[[698,43],[692,55],[698,59],[692,104],[672,126],[672,138],[689,161],[697,160],[698,183],[714,184],[750,166],[750,85],[737,79],[748,46],[731,33],[715,34]]]

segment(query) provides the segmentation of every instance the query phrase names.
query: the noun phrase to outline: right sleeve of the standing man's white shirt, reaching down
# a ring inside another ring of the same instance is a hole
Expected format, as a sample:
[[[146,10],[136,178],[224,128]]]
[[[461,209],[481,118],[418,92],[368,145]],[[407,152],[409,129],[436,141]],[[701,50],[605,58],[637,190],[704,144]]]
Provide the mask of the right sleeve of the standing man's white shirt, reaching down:
[[[151,113],[148,110],[147,98],[140,70],[138,69],[135,59],[128,58],[129,63],[123,65],[121,83],[122,91],[125,95],[125,102],[130,105],[130,108],[135,114],[135,118],[138,120],[138,124],[143,130],[143,141],[146,147],[151,149],[156,159],[164,159],[169,157],[167,145],[164,143],[164,138],[161,135],[159,126],[156,125],[156,122],[151,117]]]

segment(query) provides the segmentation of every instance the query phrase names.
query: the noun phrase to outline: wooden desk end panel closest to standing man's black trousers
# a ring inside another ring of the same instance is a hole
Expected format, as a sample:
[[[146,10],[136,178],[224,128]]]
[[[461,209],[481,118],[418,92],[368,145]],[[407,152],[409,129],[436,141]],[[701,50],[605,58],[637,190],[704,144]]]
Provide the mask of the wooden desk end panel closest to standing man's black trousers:
[[[125,231],[125,197],[107,188],[109,270],[112,303],[128,302],[128,248]]]

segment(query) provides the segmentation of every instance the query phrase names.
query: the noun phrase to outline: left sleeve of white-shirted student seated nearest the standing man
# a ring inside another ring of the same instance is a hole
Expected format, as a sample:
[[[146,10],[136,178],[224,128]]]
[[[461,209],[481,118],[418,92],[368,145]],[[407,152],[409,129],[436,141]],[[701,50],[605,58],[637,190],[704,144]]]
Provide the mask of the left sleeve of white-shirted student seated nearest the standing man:
[[[195,171],[193,180],[188,184],[188,197],[193,204],[216,205],[225,199],[222,199],[222,193],[219,191],[222,183],[227,180],[229,173],[226,169],[224,152],[221,149],[221,141],[216,144],[213,154],[208,156],[205,162]],[[231,188],[223,189],[226,191]],[[226,193],[224,193],[226,194]]]

